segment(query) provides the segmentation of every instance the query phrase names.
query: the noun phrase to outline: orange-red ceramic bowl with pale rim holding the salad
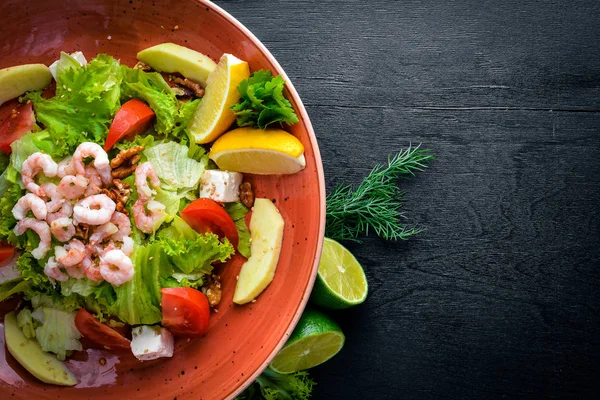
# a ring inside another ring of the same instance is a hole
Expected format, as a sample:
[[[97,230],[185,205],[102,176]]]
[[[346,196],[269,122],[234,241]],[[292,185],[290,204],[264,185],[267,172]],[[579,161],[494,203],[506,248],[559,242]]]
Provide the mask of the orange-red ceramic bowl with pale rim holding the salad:
[[[269,51],[232,16],[205,0],[3,1],[0,68],[50,64],[61,50],[89,58],[108,53],[133,66],[146,47],[174,42],[215,60],[227,52],[251,70],[282,75],[300,122],[290,128],[304,144],[306,169],[291,176],[251,177],[256,195],[268,197],[285,219],[283,249],[274,281],[255,303],[232,303],[241,266],[222,267],[224,296],[204,338],[178,340],[173,358],[138,362],[87,350],[69,362],[80,379],[73,388],[43,384],[0,346],[0,397],[19,399],[225,399],[233,398],[268,365],[297,323],[321,253],[325,189],[319,150],[296,90]],[[303,62],[298,60],[298,62]],[[4,334],[0,335],[4,340]],[[104,359],[104,360],[102,360]]]

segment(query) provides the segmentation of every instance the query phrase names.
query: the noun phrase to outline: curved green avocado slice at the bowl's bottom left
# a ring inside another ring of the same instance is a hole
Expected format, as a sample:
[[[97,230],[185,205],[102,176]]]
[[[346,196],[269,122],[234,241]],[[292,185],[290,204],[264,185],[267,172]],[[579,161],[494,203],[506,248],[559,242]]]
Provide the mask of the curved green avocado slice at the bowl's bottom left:
[[[14,312],[4,317],[4,336],[10,354],[40,381],[60,386],[77,384],[77,378],[62,361],[43,351],[35,339],[25,338]]]

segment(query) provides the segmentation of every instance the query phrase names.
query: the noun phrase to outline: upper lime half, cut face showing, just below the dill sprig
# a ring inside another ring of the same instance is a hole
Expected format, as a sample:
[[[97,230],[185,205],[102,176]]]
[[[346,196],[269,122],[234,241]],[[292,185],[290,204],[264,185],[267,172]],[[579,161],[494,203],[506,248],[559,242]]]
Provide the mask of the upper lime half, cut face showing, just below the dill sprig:
[[[352,253],[335,240],[325,238],[311,301],[341,310],[364,302],[368,289],[365,271]]]

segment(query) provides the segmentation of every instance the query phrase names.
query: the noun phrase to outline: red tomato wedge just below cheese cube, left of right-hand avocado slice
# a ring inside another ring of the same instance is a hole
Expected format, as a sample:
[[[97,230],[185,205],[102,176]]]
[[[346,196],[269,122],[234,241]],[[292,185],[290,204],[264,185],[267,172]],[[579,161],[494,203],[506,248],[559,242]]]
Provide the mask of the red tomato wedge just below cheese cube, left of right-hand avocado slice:
[[[212,232],[220,238],[226,237],[237,249],[235,222],[216,201],[206,198],[194,200],[181,211],[181,218],[198,233]]]

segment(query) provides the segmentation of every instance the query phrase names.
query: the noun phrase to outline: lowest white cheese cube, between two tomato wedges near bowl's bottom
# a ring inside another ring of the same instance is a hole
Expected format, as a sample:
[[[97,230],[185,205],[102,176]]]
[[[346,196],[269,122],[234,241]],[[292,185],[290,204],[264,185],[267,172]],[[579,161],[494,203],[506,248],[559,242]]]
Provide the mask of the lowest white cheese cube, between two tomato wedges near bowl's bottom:
[[[136,326],[131,330],[131,352],[141,361],[173,357],[171,332],[160,326]]]

